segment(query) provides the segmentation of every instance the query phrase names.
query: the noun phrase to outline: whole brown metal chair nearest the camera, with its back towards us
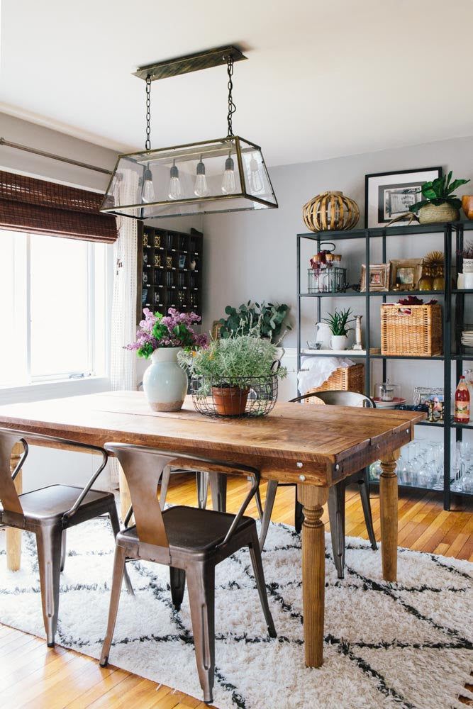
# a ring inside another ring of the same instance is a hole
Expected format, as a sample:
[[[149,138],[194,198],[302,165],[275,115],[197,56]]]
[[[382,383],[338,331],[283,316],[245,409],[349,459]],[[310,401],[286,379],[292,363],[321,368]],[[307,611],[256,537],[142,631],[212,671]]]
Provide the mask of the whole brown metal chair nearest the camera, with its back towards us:
[[[130,489],[132,507],[126,516],[125,529],[116,537],[108,627],[100,664],[104,667],[108,662],[126,561],[146,559],[165,564],[169,566],[172,603],[177,610],[181,607],[187,579],[197,671],[204,701],[211,703],[215,661],[215,567],[242,547],[250,547],[269,636],[276,637],[267,601],[256,523],[251,517],[243,516],[259,485],[259,471],[245,465],[142,446],[106,443],[105,448],[121,463]],[[223,474],[243,472],[250,476],[252,486],[238,513],[229,515],[184,506],[162,511],[156,498],[157,481],[160,471],[172,461],[181,466],[189,461],[189,467],[198,470],[204,463],[207,469]],[[136,525],[128,527],[132,513]]]

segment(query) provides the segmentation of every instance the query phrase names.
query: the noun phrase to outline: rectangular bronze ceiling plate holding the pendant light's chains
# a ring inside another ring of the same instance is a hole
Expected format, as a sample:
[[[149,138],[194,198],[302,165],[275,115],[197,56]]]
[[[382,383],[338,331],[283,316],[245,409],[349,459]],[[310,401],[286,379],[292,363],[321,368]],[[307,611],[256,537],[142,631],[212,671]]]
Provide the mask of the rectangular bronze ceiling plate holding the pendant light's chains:
[[[133,72],[133,76],[144,80],[149,76],[152,82],[157,79],[169,79],[169,77],[177,77],[179,74],[199,72],[201,69],[210,69],[211,67],[226,64],[229,55],[233,57],[234,62],[247,59],[237,47],[228,45],[226,47],[208,49],[204,52],[196,52],[196,54],[188,54],[185,57],[174,57],[174,59],[148,64],[145,67],[138,67]]]

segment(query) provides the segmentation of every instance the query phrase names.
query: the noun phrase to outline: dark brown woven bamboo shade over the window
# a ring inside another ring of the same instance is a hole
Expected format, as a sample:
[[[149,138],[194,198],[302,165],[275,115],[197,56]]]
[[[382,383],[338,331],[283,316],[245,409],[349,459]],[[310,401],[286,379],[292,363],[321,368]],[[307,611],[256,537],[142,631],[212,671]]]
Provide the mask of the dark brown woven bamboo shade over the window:
[[[101,214],[103,196],[0,171],[0,228],[69,239],[116,241],[116,220]]]

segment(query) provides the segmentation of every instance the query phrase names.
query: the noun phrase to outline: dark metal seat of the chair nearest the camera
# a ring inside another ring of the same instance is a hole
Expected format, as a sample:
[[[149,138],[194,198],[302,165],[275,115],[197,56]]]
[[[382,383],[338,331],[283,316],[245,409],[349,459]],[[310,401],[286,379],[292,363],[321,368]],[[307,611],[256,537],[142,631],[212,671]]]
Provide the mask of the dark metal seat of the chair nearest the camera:
[[[234,515],[194,507],[176,506],[162,513],[169,547],[186,551],[205,552],[223,542]],[[242,517],[237,531],[255,524],[252,517]],[[136,527],[129,527],[117,536],[117,543],[139,544]]]

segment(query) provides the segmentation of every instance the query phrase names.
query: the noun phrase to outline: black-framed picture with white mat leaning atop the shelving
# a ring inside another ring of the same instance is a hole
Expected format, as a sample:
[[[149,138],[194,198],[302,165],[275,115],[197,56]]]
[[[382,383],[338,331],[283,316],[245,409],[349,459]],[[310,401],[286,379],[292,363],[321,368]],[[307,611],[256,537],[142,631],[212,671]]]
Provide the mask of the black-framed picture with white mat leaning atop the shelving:
[[[425,182],[442,177],[441,167],[419,167],[365,175],[365,228],[385,226],[421,200]],[[405,220],[397,225],[407,223]]]

